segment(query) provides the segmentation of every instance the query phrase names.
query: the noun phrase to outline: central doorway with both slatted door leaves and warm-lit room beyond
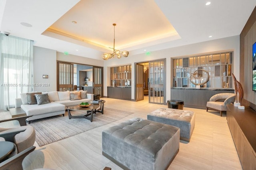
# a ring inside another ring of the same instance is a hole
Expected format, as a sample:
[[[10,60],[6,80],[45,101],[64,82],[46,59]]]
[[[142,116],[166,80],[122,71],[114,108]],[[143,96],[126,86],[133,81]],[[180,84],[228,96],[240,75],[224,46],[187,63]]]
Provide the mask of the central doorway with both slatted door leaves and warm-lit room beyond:
[[[143,100],[146,96],[149,103],[166,105],[166,59],[135,63],[135,65],[135,101]],[[143,66],[143,73],[138,68],[139,65]],[[141,90],[142,84],[143,90]]]

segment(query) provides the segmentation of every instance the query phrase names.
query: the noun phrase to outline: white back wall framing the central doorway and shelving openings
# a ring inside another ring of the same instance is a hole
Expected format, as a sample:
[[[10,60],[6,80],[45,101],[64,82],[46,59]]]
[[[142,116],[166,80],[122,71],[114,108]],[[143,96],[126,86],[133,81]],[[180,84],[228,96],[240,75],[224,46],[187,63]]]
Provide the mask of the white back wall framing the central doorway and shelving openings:
[[[150,47],[146,48],[150,51]],[[182,58],[186,56],[207,54],[221,51],[234,51],[233,56],[233,73],[236,77],[240,76],[240,37],[239,35],[233,37],[227,37],[222,39],[216,39],[212,41],[205,41],[201,43],[195,43],[191,45],[185,45],[180,47],[174,47],[169,49],[164,49],[160,51],[152,51],[150,55],[139,54],[132,55],[129,54],[127,58],[122,57],[121,59],[109,59],[104,62],[104,96],[107,96],[107,86],[110,82],[110,67],[132,64],[132,99],[134,99],[134,63],[151,61],[156,59],[166,59],[166,100],[170,100],[170,88],[171,88],[171,58]],[[106,77],[106,78],[105,78]],[[238,80],[239,81],[239,80]]]

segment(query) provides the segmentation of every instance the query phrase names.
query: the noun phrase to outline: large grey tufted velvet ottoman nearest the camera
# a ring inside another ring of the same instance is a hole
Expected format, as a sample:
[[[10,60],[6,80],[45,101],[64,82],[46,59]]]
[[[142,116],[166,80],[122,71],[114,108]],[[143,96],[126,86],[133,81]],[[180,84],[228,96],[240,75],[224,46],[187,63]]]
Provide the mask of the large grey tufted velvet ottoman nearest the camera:
[[[180,129],[133,118],[102,131],[102,154],[123,169],[167,169],[180,147]]]

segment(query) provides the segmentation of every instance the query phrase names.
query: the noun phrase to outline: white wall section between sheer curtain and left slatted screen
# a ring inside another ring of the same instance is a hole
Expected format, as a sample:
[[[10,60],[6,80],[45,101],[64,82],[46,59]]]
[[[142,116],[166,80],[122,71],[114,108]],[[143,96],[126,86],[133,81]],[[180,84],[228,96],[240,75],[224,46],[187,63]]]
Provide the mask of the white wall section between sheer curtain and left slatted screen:
[[[56,91],[56,51],[34,46],[33,67],[34,91]],[[48,75],[48,78],[43,78],[43,75]]]

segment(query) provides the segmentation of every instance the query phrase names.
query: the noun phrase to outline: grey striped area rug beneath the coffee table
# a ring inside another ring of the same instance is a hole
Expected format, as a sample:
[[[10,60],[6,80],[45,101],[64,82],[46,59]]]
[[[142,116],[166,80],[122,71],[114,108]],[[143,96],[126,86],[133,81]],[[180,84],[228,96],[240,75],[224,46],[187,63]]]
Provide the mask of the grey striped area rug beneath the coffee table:
[[[71,112],[71,114],[81,114],[81,112]],[[105,107],[104,114],[94,114],[93,120],[90,122],[90,120],[84,118],[68,119],[68,112],[66,111],[65,116],[57,115],[38,119],[31,121],[29,125],[35,128],[36,142],[41,147],[117,121],[131,114],[132,112],[129,111],[121,111]]]

